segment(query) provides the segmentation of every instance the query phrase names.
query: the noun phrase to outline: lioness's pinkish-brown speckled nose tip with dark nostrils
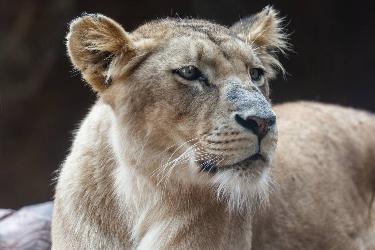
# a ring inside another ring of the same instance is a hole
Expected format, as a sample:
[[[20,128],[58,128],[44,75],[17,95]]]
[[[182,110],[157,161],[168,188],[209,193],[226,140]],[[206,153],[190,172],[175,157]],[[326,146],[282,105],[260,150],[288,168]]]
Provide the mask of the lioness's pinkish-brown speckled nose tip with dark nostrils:
[[[249,116],[244,120],[240,115],[236,115],[236,121],[242,127],[251,130],[255,135],[258,136],[259,141],[266,135],[268,128],[275,124],[276,116],[269,118],[261,118],[256,116]]]

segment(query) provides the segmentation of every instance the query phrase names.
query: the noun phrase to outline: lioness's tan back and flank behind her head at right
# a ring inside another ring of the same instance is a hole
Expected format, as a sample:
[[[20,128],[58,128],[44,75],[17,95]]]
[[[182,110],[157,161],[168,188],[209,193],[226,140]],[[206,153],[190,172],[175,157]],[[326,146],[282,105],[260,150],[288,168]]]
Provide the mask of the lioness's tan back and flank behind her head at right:
[[[375,248],[375,115],[285,103],[269,208],[252,220],[254,249]]]

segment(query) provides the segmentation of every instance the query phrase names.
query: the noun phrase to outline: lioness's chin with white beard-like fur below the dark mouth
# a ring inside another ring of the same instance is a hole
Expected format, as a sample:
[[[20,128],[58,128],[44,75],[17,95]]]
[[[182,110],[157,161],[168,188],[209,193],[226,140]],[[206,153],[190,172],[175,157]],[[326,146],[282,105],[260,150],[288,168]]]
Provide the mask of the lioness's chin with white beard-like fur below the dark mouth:
[[[273,182],[269,157],[256,153],[223,166],[210,161],[198,164],[217,201],[225,201],[229,212],[246,214],[253,211],[254,206],[263,208],[267,205],[269,184]]]

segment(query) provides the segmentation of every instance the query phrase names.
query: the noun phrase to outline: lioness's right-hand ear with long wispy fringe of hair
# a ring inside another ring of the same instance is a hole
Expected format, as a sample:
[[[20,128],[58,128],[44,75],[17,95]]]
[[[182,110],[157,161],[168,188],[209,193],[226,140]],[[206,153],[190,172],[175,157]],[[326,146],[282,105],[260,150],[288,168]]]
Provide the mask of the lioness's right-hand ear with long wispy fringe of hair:
[[[229,28],[253,48],[255,55],[267,68],[270,78],[276,77],[276,70],[280,70],[285,77],[286,72],[278,55],[287,57],[287,52],[292,51],[292,45],[288,42],[290,34],[285,29],[287,25],[283,25],[284,20],[285,17],[281,17],[278,10],[267,5],[261,12],[240,19]]]

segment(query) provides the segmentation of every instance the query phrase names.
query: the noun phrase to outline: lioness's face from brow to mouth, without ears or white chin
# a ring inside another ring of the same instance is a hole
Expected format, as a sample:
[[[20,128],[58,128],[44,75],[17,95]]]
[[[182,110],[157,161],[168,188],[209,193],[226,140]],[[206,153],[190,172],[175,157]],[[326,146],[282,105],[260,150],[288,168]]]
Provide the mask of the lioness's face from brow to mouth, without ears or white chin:
[[[199,31],[172,37],[139,66],[137,85],[149,93],[142,109],[150,123],[168,127],[172,142],[196,150],[202,171],[264,168],[277,141],[267,69],[245,41],[222,31],[212,35],[220,42]],[[147,82],[144,72],[150,72]]]

